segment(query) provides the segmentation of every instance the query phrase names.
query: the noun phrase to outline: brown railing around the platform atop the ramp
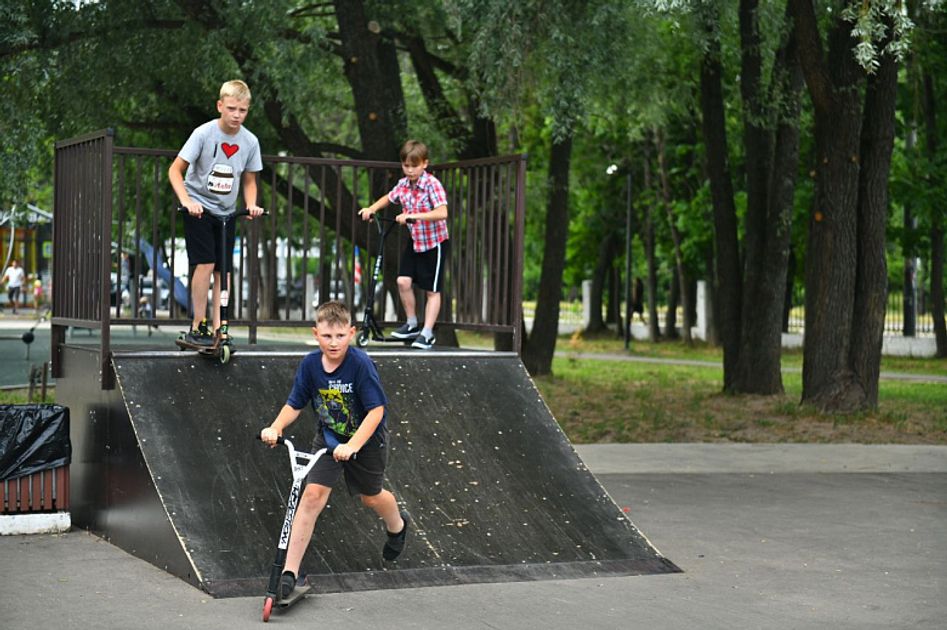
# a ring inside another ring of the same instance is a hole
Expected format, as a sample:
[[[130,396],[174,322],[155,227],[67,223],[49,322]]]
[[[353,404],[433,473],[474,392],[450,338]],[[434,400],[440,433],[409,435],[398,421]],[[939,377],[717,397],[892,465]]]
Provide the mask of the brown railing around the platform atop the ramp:
[[[186,268],[183,225],[167,181],[175,152],[118,147],[113,140],[104,130],[56,145],[53,374],[67,327],[99,330],[103,387],[111,386],[112,326],[190,321],[186,305],[175,300],[175,283],[187,280],[174,274]],[[259,327],[311,326],[321,296],[343,300],[360,319],[378,235],[357,211],[390,190],[400,165],[287,156],[264,156],[263,163],[259,203],[269,214],[238,222],[232,324],[248,328],[250,343]],[[508,333],[519,352],[526,158],[431,171],[447,191],[452,250],[439,326]],[[385,244],[385,291],[396,308],[403,238],[397,231]],[[376,316],[390,325],[385,302],[377,296]]]

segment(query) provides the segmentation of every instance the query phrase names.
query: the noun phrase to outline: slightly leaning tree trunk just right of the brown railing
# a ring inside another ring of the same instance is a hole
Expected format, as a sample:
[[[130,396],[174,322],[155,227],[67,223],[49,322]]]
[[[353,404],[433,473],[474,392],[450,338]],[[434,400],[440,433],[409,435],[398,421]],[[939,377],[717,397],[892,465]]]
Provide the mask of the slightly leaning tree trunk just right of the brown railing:
[[[523,347],[523,363],[533,376],[552,372],[559,332],[559,300],[569,234],[569,168],[572,136],[553,140],[549,156],[549,203],[533,330]]]

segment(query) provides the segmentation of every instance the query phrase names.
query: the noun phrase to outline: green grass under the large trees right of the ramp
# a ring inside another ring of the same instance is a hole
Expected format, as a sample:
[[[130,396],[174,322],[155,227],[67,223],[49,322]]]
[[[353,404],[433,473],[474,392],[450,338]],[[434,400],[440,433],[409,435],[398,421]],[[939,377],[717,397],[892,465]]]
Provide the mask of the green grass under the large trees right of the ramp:
[[[721,393],[722,357],[706,344],[636,341],[635,356],[699,360],[713,366],[614,361],[628,354],[614,337],[561,338],[553,375],[535,379],[553,414],[576,443],[858,442],[947,444],[947,386],[882,379],[876,411],[821,414],[800,404],[801,351],[783,357],[784,394]],[[588,357],[588,358],[586,358]],[[883,372],[947,374],[944,361],[885,357]]]

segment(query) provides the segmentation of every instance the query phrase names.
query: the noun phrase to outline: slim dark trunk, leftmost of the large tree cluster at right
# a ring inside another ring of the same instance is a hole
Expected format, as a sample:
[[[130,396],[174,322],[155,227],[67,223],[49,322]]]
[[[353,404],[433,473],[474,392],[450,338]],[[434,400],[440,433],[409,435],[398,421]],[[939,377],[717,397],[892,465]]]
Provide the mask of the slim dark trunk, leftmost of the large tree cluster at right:
[[[733,203],[733,181],[727,152],[720,41],[714,34],[717,19],[716,15],[704,18],[704,28],[710,37],[700,64],[700,109],[703,113],[707,174],[714,208],[717,333],[723,344],[723,388],[729,391],[736,376],[740,352],[743,280],[737,212]]]

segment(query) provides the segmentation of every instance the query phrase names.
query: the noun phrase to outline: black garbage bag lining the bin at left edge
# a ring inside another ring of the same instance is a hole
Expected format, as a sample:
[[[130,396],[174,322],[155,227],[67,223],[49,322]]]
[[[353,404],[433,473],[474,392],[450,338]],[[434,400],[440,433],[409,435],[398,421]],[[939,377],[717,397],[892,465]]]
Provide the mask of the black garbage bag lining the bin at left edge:
[[[67,407],[0,405],[0,480],[57,468],[71,460]]]

